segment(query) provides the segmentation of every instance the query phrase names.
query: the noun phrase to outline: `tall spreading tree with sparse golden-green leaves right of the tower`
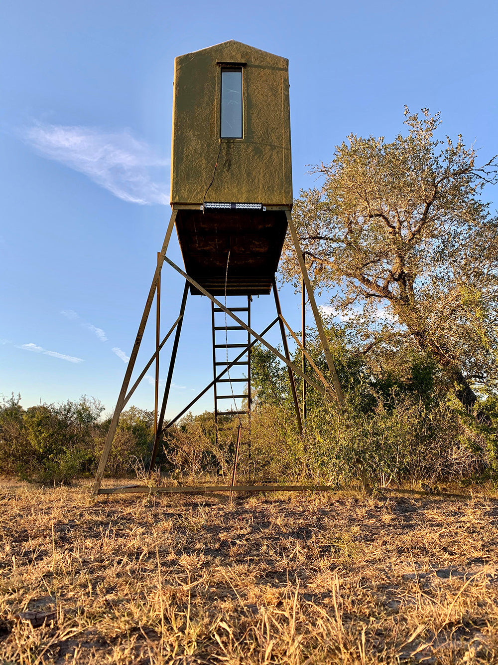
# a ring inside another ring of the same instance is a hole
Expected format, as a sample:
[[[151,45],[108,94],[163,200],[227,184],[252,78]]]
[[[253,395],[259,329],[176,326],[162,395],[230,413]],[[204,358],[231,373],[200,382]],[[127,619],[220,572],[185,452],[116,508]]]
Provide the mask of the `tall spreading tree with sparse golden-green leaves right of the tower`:
[[[364,354],[430,354],[466,408],[496,379],[498,219],[481,201],[497,160],[477,166],[461,136],[436,138],[440,116],[408,114],[394,141],[355,134],[313,172],[293,218],[317,289]],[[299,274],[291,243],[284,276]]]

